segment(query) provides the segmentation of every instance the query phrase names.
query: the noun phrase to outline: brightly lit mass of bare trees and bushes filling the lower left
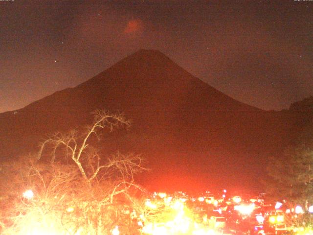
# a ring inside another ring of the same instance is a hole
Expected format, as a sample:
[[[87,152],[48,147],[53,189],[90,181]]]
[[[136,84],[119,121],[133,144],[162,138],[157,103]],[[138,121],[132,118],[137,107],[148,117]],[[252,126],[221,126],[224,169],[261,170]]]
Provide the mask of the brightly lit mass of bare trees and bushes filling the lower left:
[[[100,139],[104,129],[112,131],[118,126],[128,128],[130,121],[123,115],[97,110],[86,129],[55,133],[40,144],[39,154],[31,161],[26,157],[19,164],[3,166],[0,180],[6,179],[6,188],[16,194],[9,197],[15,200],[5,214],[0,213],[3,234],[26,234],[25,229],[42,232],[52,229],[48,227],[51,223],[57,234],[111,234],[116,225],[125,227],[126,220],[131,221],[126,208],[133,207],[129,189],[141,189],[134,182],[134,174],[145,170],[143,159],[120,152],[104,158],[91,144],[94,138]],[[40,161],[46,149],[51,150],[48,163]],[[62,160],[69,164],[58,161],[60,150]],[[34,191],[33,199],[18,196],[29,188]],[[5,218],[11,222],[4,223]]]

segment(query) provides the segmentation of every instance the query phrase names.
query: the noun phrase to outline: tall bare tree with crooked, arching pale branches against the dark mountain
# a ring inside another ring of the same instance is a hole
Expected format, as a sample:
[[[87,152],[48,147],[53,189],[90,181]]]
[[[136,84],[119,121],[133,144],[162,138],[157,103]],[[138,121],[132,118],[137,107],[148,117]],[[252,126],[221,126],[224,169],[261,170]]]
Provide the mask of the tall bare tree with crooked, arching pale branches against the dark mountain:
[[[113,196],[127,191],[130,187],[137,187],[134,184],[134,174],[146,170],[146,168],[142,166],[140,155],[124,155],[117,152],[105,160],[100,158],[97,149],[89,144],[91,136],[100,140],[101,130],[107,128],[112,131],[118,126],[128,128],[130,120],[127,120],[122,114],[115,115],[103,110],[96,110],[93,114],[93,123],[82,133],[77,130],[65,134],[58,132],[43,141],[40,144],[38,160],[41,159],[45,147],[49,146],[52,148],[50,161],[53,163],[57,149],[65,147],[66,158],[69,157],[77,165],[82,177],[89,185],[95,179],[105,180],[106,183],[110,181],[112,185],[110,201],[112,203]],[[98,177],[99,175],[101,177]]]

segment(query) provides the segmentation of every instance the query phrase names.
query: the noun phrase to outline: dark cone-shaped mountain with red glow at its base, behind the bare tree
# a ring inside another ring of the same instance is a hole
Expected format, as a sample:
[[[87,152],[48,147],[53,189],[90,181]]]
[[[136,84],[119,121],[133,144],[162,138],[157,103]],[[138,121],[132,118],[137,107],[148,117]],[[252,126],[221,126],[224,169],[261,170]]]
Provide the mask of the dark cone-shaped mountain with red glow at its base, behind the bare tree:
[[[148,188],[258,188],[268,156],[311,122],[312,107],[311,97],[290,110],[263,111],[159,51],[139,50],[75,88],[0,114],[0,159],[35,151],[47,134],[90,123],[90,112],[105,109],[125,113],[132,127],[104,136],[104,152],[142,153],[151,171],[138,180]]]

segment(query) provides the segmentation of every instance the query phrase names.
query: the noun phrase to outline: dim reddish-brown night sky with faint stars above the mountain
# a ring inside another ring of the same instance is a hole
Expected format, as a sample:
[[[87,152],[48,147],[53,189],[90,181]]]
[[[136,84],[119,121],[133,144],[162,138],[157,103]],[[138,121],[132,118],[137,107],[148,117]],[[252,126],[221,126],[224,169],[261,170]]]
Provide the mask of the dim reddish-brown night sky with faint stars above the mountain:
[[[313,95],[313,1],[0,0],[0,113],[140,48],[261,109]]]

